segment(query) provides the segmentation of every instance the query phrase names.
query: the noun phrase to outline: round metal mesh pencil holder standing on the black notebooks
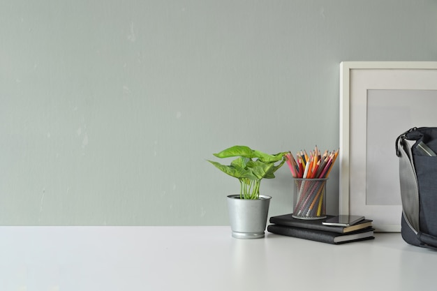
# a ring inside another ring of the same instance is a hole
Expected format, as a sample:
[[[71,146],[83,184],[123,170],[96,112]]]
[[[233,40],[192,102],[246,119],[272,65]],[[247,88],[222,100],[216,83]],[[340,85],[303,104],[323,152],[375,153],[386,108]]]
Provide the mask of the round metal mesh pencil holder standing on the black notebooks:
[[[293,179],[293,213],[299,219],[326,218],[325,179]]]

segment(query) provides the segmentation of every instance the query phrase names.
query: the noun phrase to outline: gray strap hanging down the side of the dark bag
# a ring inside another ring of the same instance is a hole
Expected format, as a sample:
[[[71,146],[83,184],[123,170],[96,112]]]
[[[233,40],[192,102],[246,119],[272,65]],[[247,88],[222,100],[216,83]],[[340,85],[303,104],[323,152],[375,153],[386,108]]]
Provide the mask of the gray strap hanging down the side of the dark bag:
[[[411,128],[396,140],[396,154],[399,157],[399,180],[401,185],[401,200],[403,218],[410,229],[416,234],[422,246],[437,248],[437,237],[420,232],[419,223],[419,186],[413,163],[411,147],[406,142],[406,135],[417,128]]]

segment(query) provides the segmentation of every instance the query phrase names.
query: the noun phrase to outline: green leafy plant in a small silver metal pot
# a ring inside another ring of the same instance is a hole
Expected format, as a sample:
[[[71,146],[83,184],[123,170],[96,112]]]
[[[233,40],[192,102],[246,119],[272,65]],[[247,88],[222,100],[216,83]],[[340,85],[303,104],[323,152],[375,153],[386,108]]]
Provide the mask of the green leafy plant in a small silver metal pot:
[[[265,154],[246,146],[224,149],[217,158],[235,158],[230,165],[209,161],[225,174],[239,180],[240,192],[228,195],[228,210],[232,237],[256,239],[264,237],[271,196],[260,195],[262,179],[273,179],[274,172],[285,163],[285,155]]]

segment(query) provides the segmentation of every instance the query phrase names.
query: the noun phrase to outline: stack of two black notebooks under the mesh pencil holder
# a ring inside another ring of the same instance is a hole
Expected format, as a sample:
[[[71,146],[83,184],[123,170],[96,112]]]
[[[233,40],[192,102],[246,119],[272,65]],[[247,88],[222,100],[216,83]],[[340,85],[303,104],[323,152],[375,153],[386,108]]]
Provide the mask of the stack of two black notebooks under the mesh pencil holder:
[[[344,244],[375,238],[373,237],[372,221],[369,219],[364,219],[350,226],[323,224],[324,221],[332,217],[334,216],[327,215],[323,219],[304,220],[293,218],[292,214],[272,216],[269,222],[273,224],[267,226],[267,231],[327,244]]]

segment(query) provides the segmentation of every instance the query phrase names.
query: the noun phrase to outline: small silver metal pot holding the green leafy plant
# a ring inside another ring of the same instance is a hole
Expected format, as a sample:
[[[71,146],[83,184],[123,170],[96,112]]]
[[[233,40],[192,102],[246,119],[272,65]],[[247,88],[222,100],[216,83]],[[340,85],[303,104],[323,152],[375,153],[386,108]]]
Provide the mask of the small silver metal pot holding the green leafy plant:
[[[260,195],[258,200],[240,199],[229,195],[228,211],[232,237],[237,239],[260,239],[264,237],[269,204],[272,197]]]

